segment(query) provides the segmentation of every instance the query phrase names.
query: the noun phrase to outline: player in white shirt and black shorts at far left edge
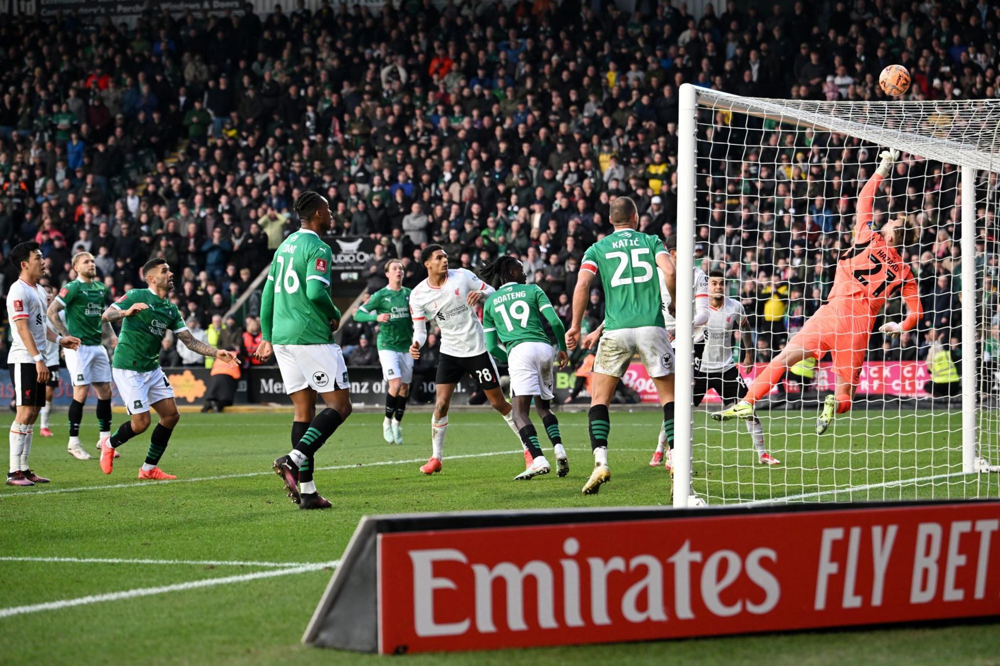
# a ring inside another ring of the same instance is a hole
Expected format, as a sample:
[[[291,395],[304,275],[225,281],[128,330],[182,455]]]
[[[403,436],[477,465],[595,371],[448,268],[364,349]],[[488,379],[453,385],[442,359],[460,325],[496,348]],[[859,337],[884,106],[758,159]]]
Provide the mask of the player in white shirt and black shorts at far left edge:
[[[48,483],[28,466],[31,439],[38,410],[45,404],[45,384],[49,368],[43,351],[46,340],[67,349],[80,346],[80,339],[63,337],[49,328],[45,317],[45,290],[38,281],[45,274],[45,263],[38,243],[21,243],[10,252],[10,261],[20,267],[21,275],[7,292],[7,319],[14,326],[7,367],[14,383],[17,413],[10,425],[9,486],[33,486]]]

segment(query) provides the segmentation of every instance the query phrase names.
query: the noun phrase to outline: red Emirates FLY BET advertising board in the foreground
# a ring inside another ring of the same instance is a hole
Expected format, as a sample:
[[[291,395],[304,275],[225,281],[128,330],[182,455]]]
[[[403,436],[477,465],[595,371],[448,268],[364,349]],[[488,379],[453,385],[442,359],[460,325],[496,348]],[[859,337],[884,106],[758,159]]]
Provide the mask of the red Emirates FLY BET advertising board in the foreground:
[[[366,517],[303,636],[489,650],[1000,615],[1000,502]]]

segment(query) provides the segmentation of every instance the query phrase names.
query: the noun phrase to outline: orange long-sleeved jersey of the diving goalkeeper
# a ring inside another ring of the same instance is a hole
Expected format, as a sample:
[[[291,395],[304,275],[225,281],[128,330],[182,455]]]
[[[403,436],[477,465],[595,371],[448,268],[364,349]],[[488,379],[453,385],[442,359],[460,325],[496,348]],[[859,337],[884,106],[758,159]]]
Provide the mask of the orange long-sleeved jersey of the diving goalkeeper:
[[[837,262],[837,275],[830,291],[831,302],[851,302],[855,311],[877,315],[887,298],[902,289],[909,316],[903,329],[916,326],[921,316],[917,283],[910,267],[903,263],[896,249],[872,229],[872,205],[882,176],[873,175],[858,197],[858,221],[854,227],[854,245]]]

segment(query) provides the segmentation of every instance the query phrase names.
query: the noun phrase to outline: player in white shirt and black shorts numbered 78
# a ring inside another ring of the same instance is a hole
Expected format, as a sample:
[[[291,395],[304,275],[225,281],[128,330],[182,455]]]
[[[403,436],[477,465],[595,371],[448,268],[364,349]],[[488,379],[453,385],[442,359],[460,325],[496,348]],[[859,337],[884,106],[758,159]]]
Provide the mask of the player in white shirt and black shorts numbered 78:
[[[514,425],[510,403],[503,397],[496,364],[486,351],[483,325],[473,307],[495,290],[471,271],[448,269],[448,255],[440,245],[428,245],[420,253],[420,262],[427,268],[427,279],[410,293],[410,315],[413,319],[413,344],[410,355],[420,358],[420,348],[427,341],[427,320],[434,319],[441,329],[441,360],[436,378],[434,416],[431,418],[433,454],[420,471],[433,474],[441,471],[444,456],[444,435],[448,429],[448,409],[451,395],[463,376],[469,375],[483,389],[493,409],[503,415],[507,425],[521,436]]]

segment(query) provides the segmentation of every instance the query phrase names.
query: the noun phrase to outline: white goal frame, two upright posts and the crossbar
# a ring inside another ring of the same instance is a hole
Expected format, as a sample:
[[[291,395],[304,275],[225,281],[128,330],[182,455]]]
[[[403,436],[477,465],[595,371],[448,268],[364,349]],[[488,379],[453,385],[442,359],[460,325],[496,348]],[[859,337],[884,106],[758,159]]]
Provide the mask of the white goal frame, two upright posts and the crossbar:
[[[697,200],[697,145],[698,145],[698,109],[716,106],[715,102],[723,98],[730,102],[729,110],[758,118],[789,122],[789,118],[776,117],[765,110],[755,109],[751,100],[724,93],[710,91],[711,104],[702,104],[706,92],[690,83],[681,85],[678,94],[679,118],[677,123],[678,157],[677,157],[677,219],[675,233],[677,235],[677,299],[676,299],[676,337],[674,339],[674,354],[677,358],[675,370],[675,420],[674,420],[674,478],[672,484],[672,500],[675,508],[688,507],[700,502],[691,494],[691,471],[693,462],[694,437],[694,246],[696,233],[696,200]],[[782,100],[774,100],[780,104]],[[891,103],[891,102],[890,102]],[[836,104],[832,102],[831,104]],[[844,104],[850,104],[845,102]],[[797,120],[804,128],[824,132],[844,134],[843,130],[831,129],[820,122],[802,119]],[[895,147],[883,144],[887,147]],[[976,172],[975,166],[953,163],[960,169],[960,192],[962,207],[960,228],[962,232],[959,245],[961,262],[961,321],[962,347],[966,350],[976,349]],[[992,168],[1000,172],[1000,164]],[[976,385],[977,382],[968,378],[976,376],[976,354],[962,354],[962,471],[965,474],[975,473],[976,442],[978,437]],[[780,501],[781,498],[775,498]]]

